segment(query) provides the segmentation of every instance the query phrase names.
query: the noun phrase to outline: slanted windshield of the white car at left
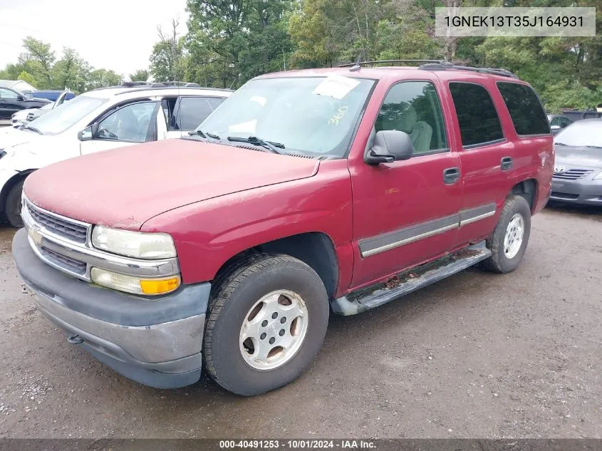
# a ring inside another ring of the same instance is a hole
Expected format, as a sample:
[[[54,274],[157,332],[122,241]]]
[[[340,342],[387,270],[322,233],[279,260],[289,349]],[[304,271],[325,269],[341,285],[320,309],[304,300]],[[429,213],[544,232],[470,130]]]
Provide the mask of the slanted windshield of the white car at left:
[[[76,124],[78,120],[81,120],[107,100],[106,98],[78,95],[73,100],[58,105],[52,111],[48,111],[45,115],[32,120],[30,124],[40,130],[43,135],[58,135],[58,133]]]

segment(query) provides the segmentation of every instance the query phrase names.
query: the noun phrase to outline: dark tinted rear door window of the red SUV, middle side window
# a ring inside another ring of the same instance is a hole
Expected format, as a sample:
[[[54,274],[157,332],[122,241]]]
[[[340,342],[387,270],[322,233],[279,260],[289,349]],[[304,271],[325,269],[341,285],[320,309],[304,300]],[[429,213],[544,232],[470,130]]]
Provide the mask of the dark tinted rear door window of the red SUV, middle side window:
[[[462,146],[476,146],[504,139],[491,95],[482,85],[450,83]]]

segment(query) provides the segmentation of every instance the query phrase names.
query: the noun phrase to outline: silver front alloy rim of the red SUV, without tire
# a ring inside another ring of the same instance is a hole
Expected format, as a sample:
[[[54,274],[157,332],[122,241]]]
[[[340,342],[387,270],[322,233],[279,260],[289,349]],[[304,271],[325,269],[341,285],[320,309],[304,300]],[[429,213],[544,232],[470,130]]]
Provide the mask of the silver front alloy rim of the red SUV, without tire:
[[[299,294],[276,290],[246,313],[239,347],[247,365],[257,370],[283,366],[295,356],[307,334],[308,311]]]

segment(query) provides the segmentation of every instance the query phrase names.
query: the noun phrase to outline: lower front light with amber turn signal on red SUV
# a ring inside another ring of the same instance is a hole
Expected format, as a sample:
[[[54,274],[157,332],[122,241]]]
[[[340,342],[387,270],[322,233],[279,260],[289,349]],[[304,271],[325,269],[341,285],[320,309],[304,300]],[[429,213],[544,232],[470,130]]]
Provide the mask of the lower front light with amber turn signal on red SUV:
[[[170,276],[165,279],[140,279],[100,268],[92,268],[90,276],[95,284],[134,294],[166,294],[180,286],[180,276]]]

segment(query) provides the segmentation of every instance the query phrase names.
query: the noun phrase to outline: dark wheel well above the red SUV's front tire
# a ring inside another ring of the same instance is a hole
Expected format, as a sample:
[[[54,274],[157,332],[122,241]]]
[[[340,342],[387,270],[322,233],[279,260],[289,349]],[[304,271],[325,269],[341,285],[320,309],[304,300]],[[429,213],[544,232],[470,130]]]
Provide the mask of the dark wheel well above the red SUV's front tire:
[[[264,244],[259,244],[252,249],[240,252],[226,261],[217,271],[214,279],[218,279],[223,271],[244,256],[255,252],[269,252],[290,255],[316,271],[326,287],[328,298],[332,298],[338,282],[338,262],[334,253],[333,242],[328,235],[321,232],[308,232],[292,237],[280,238]]]

